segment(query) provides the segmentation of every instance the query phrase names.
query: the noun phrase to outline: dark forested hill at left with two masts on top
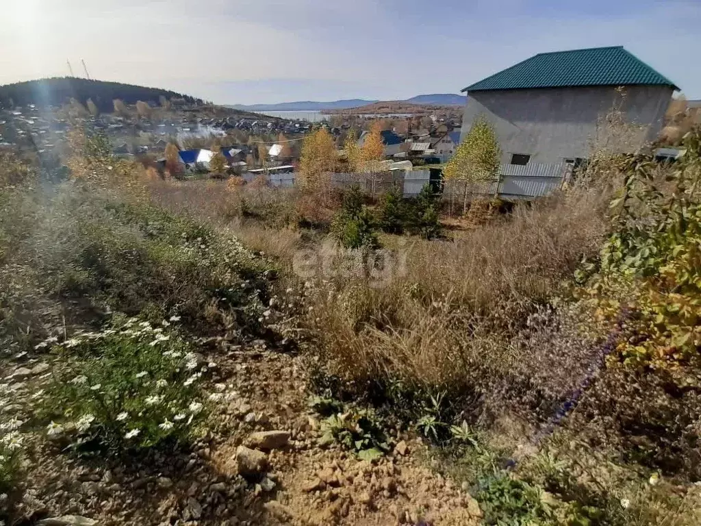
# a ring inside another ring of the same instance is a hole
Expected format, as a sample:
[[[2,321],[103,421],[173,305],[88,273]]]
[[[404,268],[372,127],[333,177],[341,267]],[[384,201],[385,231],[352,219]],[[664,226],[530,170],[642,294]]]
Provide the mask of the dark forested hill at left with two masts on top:
[[[189,95],[170,90],[67,76],[0,86],[0,107],[9,108],[12,104],[60,106],[74,98],[83,104],[86,100],[92,99],[101,112],[111,112],[114,99],[121,99],[125,104],[135,104],[137,100],[143,100],[154,106],[158,105],[161,95],[167,99],[184,99],[190,104],[196,101],[202,102]]]

